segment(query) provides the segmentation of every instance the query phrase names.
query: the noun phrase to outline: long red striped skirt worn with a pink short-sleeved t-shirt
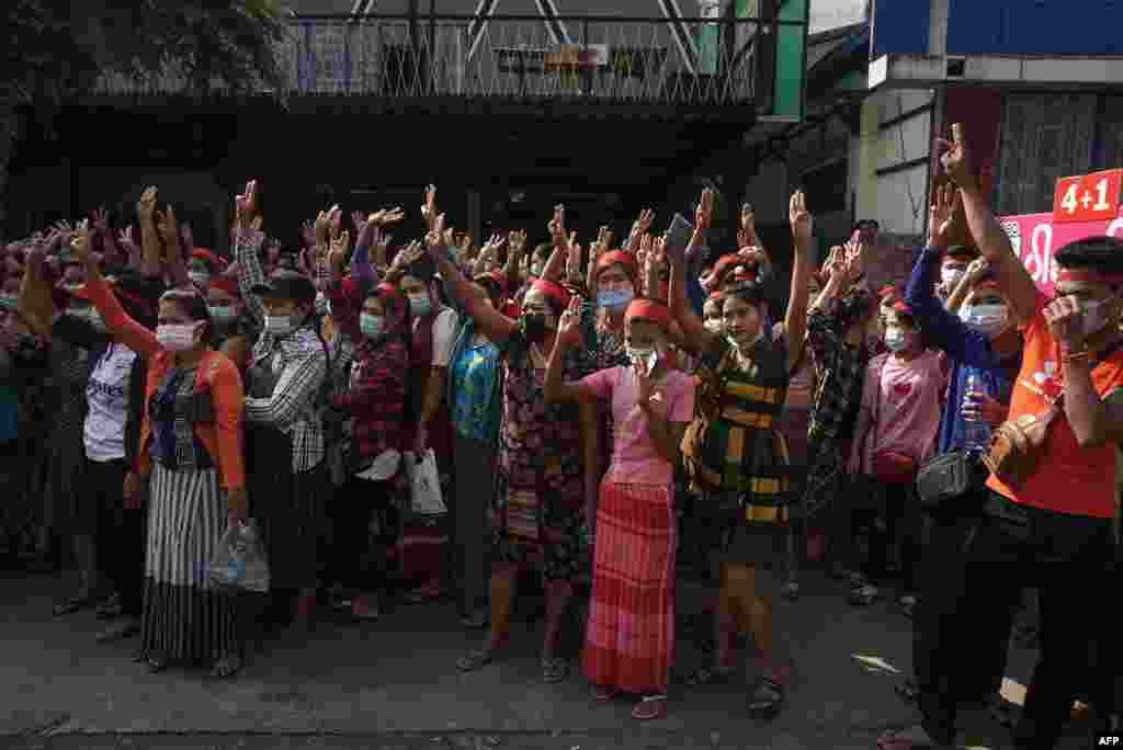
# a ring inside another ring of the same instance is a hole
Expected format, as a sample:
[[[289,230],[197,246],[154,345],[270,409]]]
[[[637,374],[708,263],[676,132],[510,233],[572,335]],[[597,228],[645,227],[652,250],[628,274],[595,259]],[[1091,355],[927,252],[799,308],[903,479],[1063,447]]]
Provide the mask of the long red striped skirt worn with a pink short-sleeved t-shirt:
[[[601,484],[581,664],[594,685],[666,693],[675,642],[672,488]]]

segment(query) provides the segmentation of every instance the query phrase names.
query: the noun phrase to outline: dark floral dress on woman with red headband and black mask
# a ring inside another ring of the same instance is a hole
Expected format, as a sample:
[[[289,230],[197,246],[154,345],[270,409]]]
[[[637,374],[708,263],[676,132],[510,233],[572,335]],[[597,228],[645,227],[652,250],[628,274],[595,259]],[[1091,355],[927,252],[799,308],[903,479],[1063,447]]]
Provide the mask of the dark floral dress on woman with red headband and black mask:
[[[504,347],[503,422],[492,519],[493,559],[538,565],[547,579],[573,579],[581,567],[584,477],[581,418],[574,403],[546,401],[545,368],[536,368],[521,330]],[[563,378],[590,369],[566,355]]]

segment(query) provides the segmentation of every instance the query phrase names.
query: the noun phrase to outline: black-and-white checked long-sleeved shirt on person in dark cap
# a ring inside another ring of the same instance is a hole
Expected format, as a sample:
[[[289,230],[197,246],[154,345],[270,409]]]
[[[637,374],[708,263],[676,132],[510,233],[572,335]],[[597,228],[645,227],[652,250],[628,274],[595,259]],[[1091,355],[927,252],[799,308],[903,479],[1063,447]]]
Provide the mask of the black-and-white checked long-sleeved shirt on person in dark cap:
[[[273,394],[267,399],[246,399],[246,421],[270,424],[292,438],[292,470],[307,472],[323,460],[323,422],[318,406],[328,377],[328,357],[311,326],[277,338],[264,330],[265,311],[253,287],[265,283],[259,250],[265,235],[241,231],[235,243],[238,286],[246,310],[262,327],[254,346],[252,365],[272,367],[280,373]],[[270,362],[265,362],[268,359]]]

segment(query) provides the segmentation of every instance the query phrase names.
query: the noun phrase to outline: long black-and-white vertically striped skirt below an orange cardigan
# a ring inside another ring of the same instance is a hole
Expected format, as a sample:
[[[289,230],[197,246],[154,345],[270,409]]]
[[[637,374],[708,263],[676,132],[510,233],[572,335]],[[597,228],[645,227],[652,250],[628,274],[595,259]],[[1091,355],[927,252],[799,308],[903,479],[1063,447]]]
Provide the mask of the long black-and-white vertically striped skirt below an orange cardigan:
[[[217,469],[154,464],[149,503],[141,655],[198,665],[238,653],[237,600],[207,575],[226,530]]]

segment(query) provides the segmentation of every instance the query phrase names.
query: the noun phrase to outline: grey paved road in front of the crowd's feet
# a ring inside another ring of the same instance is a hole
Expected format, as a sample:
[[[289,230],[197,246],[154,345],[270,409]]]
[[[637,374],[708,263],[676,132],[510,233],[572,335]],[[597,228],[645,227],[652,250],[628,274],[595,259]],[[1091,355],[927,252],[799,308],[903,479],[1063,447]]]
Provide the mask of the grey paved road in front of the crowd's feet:
[[[0,578],[0,747],[868,750],[914,719],[893,694],[910,668],[909,621],[887,604],[849,607],[818,577],[805,586],[777,611],[797,675],[775,722],[747,719],[742,689],[675,688],[670,715],[640,726],[628,703],[593,704],[576,671],[542,684],[540,623],[515,632],[505,660],[460,675],[453,665],[478,637],[447,605],[403,605],[377,623],[328,623],[311,639],[271,643],[238,679],[214,682],[146,674],[128,660],[129,643],[93,642],[92,614],[53,620],[62,587],[51,577]],[[682,591],[688,611],[697,591]],[[701,664],[679,635],[677,661]],[[576,640],[568,647],[576,652]],[[1032,655],[1013,656],[1024,682]],[[977,724],[971,744],[1004,747],[999,728]]]

